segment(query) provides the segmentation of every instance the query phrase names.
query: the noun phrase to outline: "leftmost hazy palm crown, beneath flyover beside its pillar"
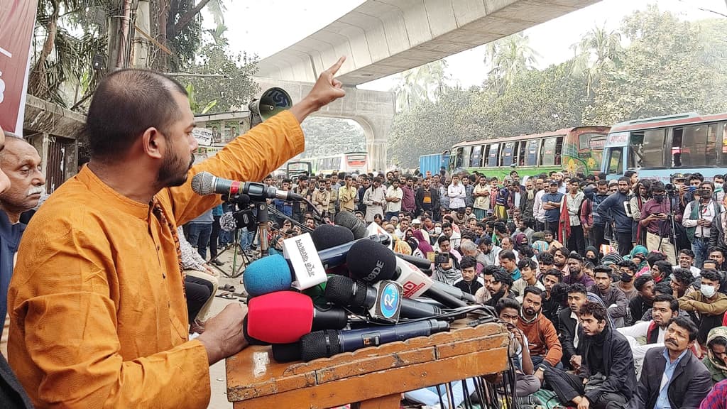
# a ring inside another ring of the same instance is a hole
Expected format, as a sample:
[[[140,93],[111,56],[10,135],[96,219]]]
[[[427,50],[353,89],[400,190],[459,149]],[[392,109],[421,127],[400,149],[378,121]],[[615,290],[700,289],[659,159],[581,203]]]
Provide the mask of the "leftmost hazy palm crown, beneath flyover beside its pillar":
[[[404,71],[393,90],[396,93],[396,108],[402,110],[426,100],[437,100],[447,87],[446,68],[445,60],[437,60]]]

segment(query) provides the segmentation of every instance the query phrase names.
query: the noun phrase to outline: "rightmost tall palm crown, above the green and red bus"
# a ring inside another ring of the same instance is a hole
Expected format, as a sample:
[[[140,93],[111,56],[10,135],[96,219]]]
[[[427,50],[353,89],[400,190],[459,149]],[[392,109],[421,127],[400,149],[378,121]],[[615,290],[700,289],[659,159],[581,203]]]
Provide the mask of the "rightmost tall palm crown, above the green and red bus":
[[[623,47],[621,34],[606,31],[606,27],[591,28],[583,39],[571,46],[576,57],[571,65],[571,74],[586,79],[586,90],[591,95],[604,75],[616,71]]]

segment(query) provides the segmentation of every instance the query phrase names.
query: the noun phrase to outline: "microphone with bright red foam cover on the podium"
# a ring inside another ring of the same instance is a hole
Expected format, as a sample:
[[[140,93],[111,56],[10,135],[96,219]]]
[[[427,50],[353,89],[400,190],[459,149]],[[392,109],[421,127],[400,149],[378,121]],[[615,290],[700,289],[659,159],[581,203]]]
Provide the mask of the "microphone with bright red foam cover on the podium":
[[[244,322],[248,338],[270,344],[289,344],[315,330],[340,330],[348,325],[344,309],[321,309],[310,297],[278,291],[251,298]]]

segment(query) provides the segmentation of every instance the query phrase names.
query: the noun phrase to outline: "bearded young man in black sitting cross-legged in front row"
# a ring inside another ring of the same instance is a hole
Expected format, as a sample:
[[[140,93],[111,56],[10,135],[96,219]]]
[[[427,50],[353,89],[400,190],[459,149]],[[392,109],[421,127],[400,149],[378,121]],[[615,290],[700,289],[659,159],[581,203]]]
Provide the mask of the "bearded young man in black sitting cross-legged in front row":
[[[563,404],[620,409],[631,400],[636,384],[629,341],[611,328],[608,311],[600,303],[585,303],[579,320],[584,335],[578,345],[582,365],[575,368],[576,374],[545,368],[545,381]]]

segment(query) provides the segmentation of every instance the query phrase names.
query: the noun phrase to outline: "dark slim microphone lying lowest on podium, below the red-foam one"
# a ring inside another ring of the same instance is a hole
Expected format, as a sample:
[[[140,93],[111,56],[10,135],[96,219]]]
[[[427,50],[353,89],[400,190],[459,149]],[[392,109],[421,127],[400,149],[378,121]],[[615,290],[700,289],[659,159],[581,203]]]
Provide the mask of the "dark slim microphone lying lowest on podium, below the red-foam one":
[[[369,327],[358,330],[323,330],[303,335],[300,338],[300,359],[308,362],[318,358],[332,357],[341,352],[353,352],[366,346],[379,346],[396,341],[405,341],[419,336],[429,336],[449,330],[449,324],[436,319],[386,327]],[[273,350],[275,346],[273,346]],[[276,354],[273,353],[273,357]],[[278,354],[278,357],[280,355]]]

